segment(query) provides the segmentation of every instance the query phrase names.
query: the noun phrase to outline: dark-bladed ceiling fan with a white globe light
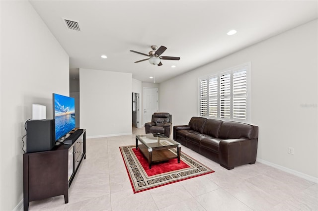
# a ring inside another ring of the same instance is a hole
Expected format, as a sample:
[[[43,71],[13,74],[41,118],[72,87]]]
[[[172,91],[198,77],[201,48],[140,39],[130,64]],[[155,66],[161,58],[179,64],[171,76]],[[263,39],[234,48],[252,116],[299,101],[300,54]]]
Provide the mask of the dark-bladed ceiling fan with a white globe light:
[[[139,53],[142,55],[146,55],[149,56],[149,58],[145,58],[139,61],[135,61],[135,63],[141,62],[141,61],[146,61],[148,60],[149,63],[153,64],[153,65],[158,65],[161,66],[161,59],[165,59],[165,60],[180,60],[180,57],[174,57],[174,56],[160,56],[167,48],[165,48],[164,46],[160,46],[160,48],[157,50],[157,46],[153,45],[151,46],[152,51],[149,52],[149,54],[146,53],[140,53],[140,52],[136,52],[133,50],[130,50],[130,52],[133,53]]]

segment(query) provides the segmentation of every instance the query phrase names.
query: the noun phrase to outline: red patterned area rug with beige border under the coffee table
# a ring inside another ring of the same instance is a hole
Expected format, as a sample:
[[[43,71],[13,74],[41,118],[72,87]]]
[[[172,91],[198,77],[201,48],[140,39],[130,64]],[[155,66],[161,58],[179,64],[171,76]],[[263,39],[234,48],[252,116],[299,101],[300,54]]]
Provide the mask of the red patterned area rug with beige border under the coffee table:
[[[148,160],[136,150],[136,146],[119,147],[134,193],[179,182],[214,171],[197,160],[181,152],[177,158],[153,163],[149,169]],[[175,155],[176,149],[169,149]]]

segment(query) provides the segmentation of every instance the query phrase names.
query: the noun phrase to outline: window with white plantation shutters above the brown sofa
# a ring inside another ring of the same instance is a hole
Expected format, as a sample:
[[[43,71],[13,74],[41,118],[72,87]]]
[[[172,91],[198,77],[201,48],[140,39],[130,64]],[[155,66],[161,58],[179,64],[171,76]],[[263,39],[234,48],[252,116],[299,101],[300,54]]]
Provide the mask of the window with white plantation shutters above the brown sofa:
[[[199,115],[225,120],[248,120],[249,69],[250,64],[247,63],[199,78]]]

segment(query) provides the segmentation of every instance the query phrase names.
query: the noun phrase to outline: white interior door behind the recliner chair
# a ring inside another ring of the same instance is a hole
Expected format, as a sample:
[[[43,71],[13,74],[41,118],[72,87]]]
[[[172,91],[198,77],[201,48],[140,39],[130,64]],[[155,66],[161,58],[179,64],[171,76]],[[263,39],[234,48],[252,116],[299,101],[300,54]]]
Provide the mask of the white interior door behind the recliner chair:
[[[150,122],[155,112],[158,112],[158,89],[144,87],[144,118],[143,124]]]

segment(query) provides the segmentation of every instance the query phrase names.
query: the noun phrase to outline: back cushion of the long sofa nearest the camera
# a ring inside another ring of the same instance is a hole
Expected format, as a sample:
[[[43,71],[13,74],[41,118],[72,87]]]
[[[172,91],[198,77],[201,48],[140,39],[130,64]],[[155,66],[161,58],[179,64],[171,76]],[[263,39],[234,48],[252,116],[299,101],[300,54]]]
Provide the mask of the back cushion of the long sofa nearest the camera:
[[[220,139],[239,139],[242,137],[252,139],[253,135],[253,125],[233,121],[224,121],[219,132]]]

